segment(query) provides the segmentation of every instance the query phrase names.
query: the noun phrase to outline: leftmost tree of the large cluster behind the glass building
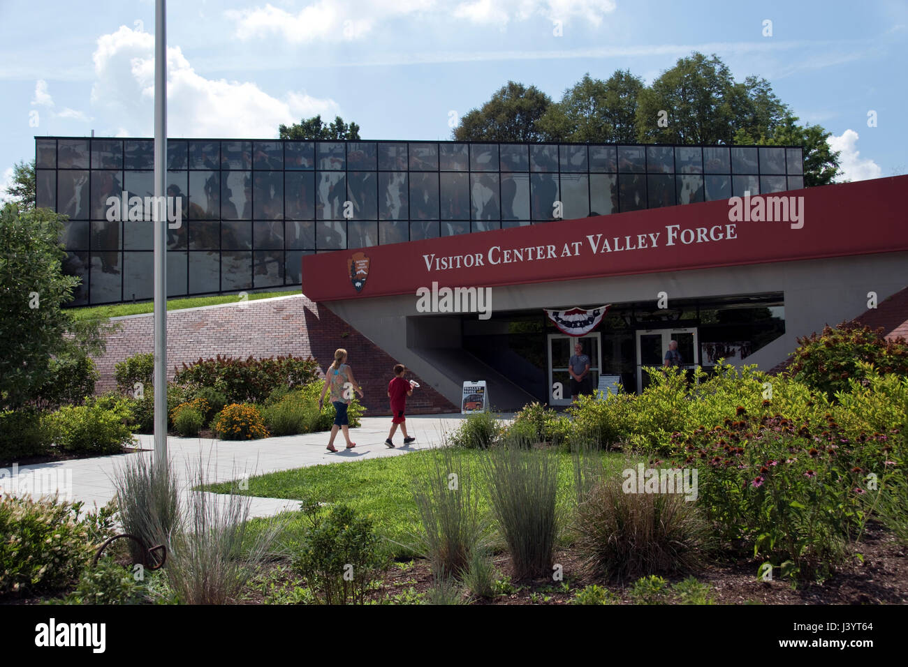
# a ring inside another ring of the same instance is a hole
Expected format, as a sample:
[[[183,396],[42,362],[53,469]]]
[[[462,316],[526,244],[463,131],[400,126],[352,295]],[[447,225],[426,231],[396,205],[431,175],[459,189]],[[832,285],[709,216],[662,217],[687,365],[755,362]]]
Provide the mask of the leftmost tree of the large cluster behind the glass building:
[[[536,86],[508,81],[479,109],[460,118],[451,135],[459,142],[539,142],[546,139],[538,121],[552,103]]]

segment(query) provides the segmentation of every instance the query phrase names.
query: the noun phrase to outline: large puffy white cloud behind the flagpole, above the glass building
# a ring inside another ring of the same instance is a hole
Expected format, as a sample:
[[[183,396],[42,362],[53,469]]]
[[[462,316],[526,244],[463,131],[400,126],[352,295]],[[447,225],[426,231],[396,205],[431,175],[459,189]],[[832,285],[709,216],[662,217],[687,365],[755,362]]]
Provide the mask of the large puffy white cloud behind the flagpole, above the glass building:
[[[153,131],[154,37],[122,25],[98,38],[92,103],[116,120],[109,132]],[[332,100],[291,92],[278,99],[250,82],[206,79],[179,46],[167,49],[167,133],[196,137],[273,137],[281,123],[332,115]]]

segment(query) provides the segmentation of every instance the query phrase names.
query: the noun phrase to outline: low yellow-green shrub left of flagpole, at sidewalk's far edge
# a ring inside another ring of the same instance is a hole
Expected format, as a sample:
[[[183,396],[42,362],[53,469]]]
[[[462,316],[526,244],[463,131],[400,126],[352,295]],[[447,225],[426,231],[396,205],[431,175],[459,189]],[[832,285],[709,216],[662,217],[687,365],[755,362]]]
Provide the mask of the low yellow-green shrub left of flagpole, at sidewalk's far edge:
[[[118,454],[133,442],[133,413],[124,403],[105,410],[97,405],[64,406],[46,417],[54,444],[77,454]]]

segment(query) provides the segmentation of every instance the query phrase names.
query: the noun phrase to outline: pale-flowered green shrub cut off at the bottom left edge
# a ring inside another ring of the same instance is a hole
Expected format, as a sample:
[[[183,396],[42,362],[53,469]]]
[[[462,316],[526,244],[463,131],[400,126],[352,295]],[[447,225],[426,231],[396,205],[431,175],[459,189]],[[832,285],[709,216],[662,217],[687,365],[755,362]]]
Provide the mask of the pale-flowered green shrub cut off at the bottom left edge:
[[[72,584],[88,563],[88,528],[72,503],[0,495],[0,593]]]

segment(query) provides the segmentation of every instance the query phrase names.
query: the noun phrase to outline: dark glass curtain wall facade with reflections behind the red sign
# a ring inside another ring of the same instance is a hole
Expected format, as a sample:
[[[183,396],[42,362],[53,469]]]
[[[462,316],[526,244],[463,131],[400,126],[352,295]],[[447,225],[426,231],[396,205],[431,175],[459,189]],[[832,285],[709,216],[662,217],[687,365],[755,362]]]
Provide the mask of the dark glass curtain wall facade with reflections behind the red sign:
[[[73,305],[151,299],[153,140],[36,137],[37,205],[64,213]],[[300,285],[301,257],[804,187],[801,148],[168,140],[169,296]]]

